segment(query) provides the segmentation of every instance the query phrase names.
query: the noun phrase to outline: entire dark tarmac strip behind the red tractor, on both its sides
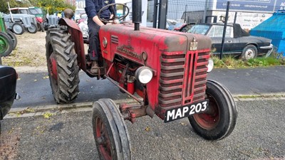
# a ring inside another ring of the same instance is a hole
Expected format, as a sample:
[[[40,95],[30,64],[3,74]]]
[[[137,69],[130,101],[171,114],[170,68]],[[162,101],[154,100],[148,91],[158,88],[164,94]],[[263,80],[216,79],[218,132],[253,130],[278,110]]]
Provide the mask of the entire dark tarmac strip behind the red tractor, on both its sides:
[[[19,73],[17,92],[21,100],[15,101],[13,107],[34,107],[38,105],[56,105],[51,94],[46,68],[16,68]],[[217,80],[225,85],[233,95],[260,95],[264,93],[281,93],[285,95],[285,66],[250,69],[214,69],[208,79]],[[80,94],[76,102],[93,102],[109,97],[112,100],[125,100],[118,87],[108,80],[89,78],[80,72]]]

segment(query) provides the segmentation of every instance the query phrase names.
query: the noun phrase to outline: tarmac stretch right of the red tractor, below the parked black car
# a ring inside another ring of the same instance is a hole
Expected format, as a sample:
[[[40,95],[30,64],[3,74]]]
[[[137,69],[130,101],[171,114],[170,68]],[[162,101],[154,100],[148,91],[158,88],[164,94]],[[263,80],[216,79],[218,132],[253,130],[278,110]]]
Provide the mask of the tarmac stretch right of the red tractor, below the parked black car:
[[[208,78],[221,82],[234,95],[285,93],[285,66],[239,70],[214,69]]]

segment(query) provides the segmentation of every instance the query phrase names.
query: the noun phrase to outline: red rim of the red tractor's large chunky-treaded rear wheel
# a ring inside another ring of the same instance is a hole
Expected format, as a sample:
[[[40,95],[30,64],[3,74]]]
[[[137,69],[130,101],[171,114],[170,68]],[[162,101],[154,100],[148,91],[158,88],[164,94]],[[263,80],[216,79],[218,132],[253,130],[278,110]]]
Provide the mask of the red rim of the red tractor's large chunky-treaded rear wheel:
[[[58,69],[57,69],[56,58],[54,57],[53,53],[48,59],[48,72],[50,73],[49,75],[53,90],[56,91],[58,86]]]

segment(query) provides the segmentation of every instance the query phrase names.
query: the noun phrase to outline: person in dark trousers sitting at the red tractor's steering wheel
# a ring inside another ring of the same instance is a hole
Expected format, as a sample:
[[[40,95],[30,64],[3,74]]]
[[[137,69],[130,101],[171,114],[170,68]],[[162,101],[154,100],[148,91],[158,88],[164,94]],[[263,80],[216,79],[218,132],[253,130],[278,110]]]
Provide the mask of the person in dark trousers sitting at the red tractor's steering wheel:
[[[115,0],[86,0],[86,14],[88,16],[89,28],[89,49],[88,55],[92,60],[92,67],[90,72],[93,74],[98,73],[98,59],[100,54],[99,42],[99,29],[100,26],[108,25],[111,23],[103,23],[98,17],[98,11],[108,4],[114,4]],[[115,15],[115,7],[110,6],[100,13],[100,18],[113,18]]]

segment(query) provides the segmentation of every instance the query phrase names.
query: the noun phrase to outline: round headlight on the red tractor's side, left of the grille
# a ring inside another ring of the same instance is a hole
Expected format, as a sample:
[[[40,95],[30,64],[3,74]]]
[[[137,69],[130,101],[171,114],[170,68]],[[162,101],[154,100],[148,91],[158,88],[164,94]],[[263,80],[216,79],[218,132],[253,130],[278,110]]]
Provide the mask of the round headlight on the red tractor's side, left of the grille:
[[[152,70],[148,67],[140,67],[135,71],[135,78],[139,80],[142,84],[147,84],[152,80]]]

